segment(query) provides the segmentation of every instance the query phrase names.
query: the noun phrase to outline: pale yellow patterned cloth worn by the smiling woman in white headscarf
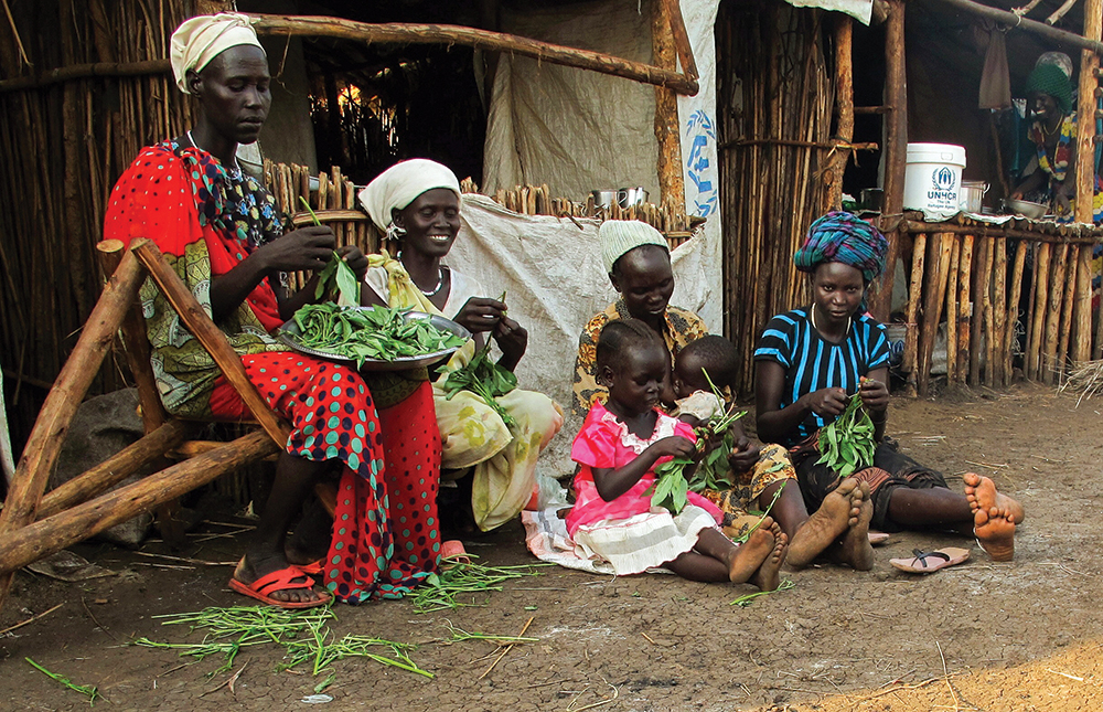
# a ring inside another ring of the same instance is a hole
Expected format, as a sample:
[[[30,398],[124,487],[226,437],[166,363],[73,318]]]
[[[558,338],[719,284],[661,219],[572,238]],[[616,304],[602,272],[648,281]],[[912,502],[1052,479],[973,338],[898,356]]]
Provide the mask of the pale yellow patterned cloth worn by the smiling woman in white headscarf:
[[[388,255],[371,255],[368,264],[387,270],[388,306],[440,315],[400,262]],[[514,419],[508,427],[494,408],[470,391],[460,391],[449,400],[443,390],[448,374],[465,365],[474,354],[472,339],[440,370],[432,395],[443,448],[440,466],[474,468],[471,508],[479,529],[490,531],[516,517],[532,498],[536,460],[563,427],[563,410],[543,393],[514,389],[496,398]]]

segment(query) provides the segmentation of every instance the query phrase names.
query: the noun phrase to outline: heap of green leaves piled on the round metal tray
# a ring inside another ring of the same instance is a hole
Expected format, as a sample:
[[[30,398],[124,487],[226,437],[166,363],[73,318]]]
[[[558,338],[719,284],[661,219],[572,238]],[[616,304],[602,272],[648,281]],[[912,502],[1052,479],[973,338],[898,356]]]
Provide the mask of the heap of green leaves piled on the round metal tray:
[[[368,359],[394,361],[463,346],[461,337],[432,326],[428,319],[407,319],[409,309],[306,305],[295,312],[299,344],[350,359],[362,368]],[[512,374],[511,374],[512,375]]]

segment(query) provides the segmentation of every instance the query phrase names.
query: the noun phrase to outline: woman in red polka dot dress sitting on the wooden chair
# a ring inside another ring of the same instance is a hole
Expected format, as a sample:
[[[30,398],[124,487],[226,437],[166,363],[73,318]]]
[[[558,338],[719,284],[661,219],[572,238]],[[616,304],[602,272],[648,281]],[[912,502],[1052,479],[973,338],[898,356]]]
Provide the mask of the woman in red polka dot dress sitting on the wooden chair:
[[[271,195],[237,164],[238,145],[257,140],[271,103],[268,61],[248,18],[188,20],[173,34],[171,60],[178,86],[199,102],[199,121],[144,149],[122,174],[104,237],[153,241],[226,333],[260,394],[291,422],[256,541],[231,587],[282,607],[334,596],[353,604],[400,597],[440,557],[440,434],[427,374],[370,384],[350,368],[287,351],[271,338],[314,290],[311,279],[290,294],[287,273],[324,266],[333,233],[282,234]],[[339,253],[363,277],[367,259],[360,249]],[[190,417],[247,418],[213,359],[149,280],[141,301],[165,407]],[[314,483],[334,469],[341,483],[329,551],[303,565],[309,556],[301,545],[287,549],[287,530]],[[318,574],[325,592],[314,589]]]

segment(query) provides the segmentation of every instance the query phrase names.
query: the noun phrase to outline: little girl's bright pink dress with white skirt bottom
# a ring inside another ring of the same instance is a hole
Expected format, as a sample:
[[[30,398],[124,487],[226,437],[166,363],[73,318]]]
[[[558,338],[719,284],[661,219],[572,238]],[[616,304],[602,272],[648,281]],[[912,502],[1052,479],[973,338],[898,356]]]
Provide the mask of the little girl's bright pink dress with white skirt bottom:
[[[617,575],[641,573],[676,559],[696,545],[703,529],[722,521],[720,510],[696,492],[689,492],[689,503],[677,516],[652,509],[644,491],[655,481],[654,468],[617,499],[601,499],[593,483],[595,467],[623,467],[652,443],[672,435],[696,442],[692,427],[655,413],[655,429],[643,439],[596,403],[571,447],[571,458],[582,467],[575,477],[577,499],[567,516],[567,532],[579,555],[610,562]],[[660,458],[655,465],[670,459]]]

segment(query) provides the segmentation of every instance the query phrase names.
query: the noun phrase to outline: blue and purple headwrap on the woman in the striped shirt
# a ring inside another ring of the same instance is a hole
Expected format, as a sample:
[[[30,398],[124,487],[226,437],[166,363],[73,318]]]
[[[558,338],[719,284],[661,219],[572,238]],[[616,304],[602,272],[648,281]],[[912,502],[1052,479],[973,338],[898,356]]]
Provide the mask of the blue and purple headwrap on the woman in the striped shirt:
[[[808,227],[808,236],[793,255],[801,272],[815,272],[827,262],[840,262],[861,270],[867,283],[885,269],[889,243],[879,230],[850,213],[833,211]]]

